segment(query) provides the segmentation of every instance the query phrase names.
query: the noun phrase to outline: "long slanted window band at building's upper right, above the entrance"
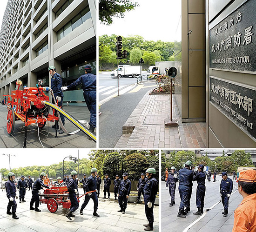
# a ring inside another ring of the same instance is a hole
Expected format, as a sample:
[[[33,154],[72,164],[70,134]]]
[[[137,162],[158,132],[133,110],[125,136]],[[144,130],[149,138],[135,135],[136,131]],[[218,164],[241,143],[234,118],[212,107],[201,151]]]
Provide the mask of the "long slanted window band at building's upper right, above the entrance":
[[[72,32],[76,27],[79,27],[82,23],[90,18],[91,13],[89,11],[89,7],[86,7],[57,32],[57,41],[61,40],[68,33]]]

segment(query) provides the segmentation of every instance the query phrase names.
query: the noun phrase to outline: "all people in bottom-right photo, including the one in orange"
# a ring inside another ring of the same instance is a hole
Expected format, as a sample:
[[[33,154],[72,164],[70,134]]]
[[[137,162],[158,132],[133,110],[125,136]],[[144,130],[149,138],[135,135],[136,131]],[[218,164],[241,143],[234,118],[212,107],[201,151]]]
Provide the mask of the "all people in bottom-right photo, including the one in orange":
[[[166,174],[168,168],[166,168]],[[214,182],[216,181],[216,172],[214,173]],[[236,173],[235,173],[236,174]],[[234,175],[234,174],[233,174]],[[235,176],[235,175],[234,175]],[[211,174],[208,173],[208,181]],[[192,194],[193,181],[197,181],[196,188],[196,207],[197,211],[193,214],[201,215],[204,211],[205,197],[205,179],[204,165],[200,164],[198,170],[194,171],[194,166],[188,160],[179,170],[177,175],[175,166],[171,167],[171,173],[166,175],[166,190],[169,190],[171,197],[169,206],[175,205],[176,183],[179,181],[180,205],[177,217],[186,218],[190,211],[190,199]],[[256,231],[256,170],[247,170],[240,172],[238,182],[238,192],[243,196],[243,201],[235,210],[235,220],[233,232],[253,232]],[[220,183],[220,196],[224,211],[223,217],[229,213],[229,199],[233,190],[233,181],[228,177],[228,172],[222,172]]]

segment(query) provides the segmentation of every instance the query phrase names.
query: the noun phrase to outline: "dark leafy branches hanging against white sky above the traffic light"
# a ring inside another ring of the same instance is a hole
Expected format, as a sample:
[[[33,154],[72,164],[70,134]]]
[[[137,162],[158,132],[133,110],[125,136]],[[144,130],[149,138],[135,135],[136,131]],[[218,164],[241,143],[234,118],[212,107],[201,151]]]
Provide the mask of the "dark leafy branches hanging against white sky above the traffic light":
[[[110,25],[113,17],[123,18],[126,11],[131,11],[139,6],[132,0],[99,0],[99,20]]]

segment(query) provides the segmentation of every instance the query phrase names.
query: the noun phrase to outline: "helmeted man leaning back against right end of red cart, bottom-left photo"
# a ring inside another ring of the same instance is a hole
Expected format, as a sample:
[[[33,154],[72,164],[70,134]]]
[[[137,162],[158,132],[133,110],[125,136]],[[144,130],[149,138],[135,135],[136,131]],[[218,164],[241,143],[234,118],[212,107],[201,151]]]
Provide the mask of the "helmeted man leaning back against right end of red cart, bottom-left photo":
[[[77,180],[76,180],[77,175],[78,173],[75,170],[73,170],[71,172],[71,179],[67,183],[67,191],[68,191],[68,196],[69,196],[71,205],[70,205],[70,210],[65,214],[65,216],[69,220],[71,220],[71,217],[75,217],[73,212],[75,212],[79,207],[78,200],[76,197],[76,194],[79,197]]]

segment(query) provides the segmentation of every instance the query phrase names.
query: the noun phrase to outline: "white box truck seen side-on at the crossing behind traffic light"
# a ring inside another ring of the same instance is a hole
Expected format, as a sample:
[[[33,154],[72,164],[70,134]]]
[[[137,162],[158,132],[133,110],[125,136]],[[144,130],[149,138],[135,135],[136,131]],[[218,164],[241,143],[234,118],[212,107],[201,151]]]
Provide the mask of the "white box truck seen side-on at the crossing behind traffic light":
[[[110,73],[111,76],[117,77],[117,68]],[[133,77],[136,78],[137,76],[141,75],[141,66],[135,65],[119,65],[118,66],[118,77]]]

